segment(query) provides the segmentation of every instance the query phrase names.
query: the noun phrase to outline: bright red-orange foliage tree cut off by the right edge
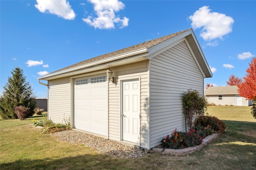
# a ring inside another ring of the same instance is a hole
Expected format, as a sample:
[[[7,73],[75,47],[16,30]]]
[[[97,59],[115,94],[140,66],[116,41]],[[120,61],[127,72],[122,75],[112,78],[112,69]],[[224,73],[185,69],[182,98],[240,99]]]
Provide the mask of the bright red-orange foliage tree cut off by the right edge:
[[[240,96],[248,100],[256,100],[256,58],[252,59],[249,68],[246,70],[244,82],[238,86]]]

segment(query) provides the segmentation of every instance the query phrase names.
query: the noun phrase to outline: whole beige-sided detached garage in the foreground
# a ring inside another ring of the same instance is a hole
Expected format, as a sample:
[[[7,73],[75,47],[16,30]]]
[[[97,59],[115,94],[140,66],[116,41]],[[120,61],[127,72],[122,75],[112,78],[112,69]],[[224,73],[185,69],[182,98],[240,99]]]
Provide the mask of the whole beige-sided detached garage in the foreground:
[[[52,121],[70,117],[74,129],[150,149],[175,128],[185,131],[183,92],[203,95],[204,78],[211,76],[187,29],[81,61],[38,82],[48,86]]]

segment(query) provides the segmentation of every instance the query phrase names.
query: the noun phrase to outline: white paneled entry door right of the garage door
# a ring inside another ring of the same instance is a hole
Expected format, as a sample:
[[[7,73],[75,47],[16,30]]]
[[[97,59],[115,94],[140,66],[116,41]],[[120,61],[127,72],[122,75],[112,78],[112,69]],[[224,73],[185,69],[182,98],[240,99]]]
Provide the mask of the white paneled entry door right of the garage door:
[[[139,143],[140,87],[138,80],[122,82],[123,140]]]

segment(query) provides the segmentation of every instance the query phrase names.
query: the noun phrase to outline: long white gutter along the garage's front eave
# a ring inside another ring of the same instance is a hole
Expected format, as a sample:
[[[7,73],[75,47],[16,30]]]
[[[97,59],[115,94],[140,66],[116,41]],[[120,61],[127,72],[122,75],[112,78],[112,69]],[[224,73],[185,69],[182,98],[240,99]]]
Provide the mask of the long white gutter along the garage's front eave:
[[[72,72],[72,71],[75,71],[75,70],[80,70],[80,69],[87,68],[87,67],[90,67],[90,66],[96,66],[96,65],[102,64],[102,63],[108,63],[108,62],[111,62],[111,61],[115,61],[117,59],[123,59],[123,58],[126,58],[126,57],[136,56],[136,55],[139,55],[139,54],[142,54],[142,53],[147,53],[147,52],[148,52],[147,48],[142,48],[142,49],[131,51],[129,53],[124,53],[124,54],[116,55],[116,56],[113,56],[113,57],[110,57],[110,58],[107,58],[107,59],[102,59],[102,60],[99,60],[99,61],[88,63],[88,64],[85,64],[85,65],[82,65],[82,66],[77,66],[77,67],[70,68],[70,69],[67,69],[67,70],[62,70],[60,72],[54,72],[52,74],[50,73],[50,74],[47,74],[45,76],[41,76],[37,79],[42,80],[42,79],[49,78],[49,77],[52,77],[52,76],[57,76],[58,74],[65,74],[65,73]]]

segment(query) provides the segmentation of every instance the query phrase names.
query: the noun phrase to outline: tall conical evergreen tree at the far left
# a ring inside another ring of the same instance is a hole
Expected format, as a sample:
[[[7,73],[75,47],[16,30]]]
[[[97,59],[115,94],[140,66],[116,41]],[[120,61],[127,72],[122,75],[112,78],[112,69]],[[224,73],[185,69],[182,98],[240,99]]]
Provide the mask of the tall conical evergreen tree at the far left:
[[[17,119],[14,113],[14,107],[28,107],[32,116],[36,107],[36,96],[29,82],[26,82],[26,77],[23,75],[23,70],[16,67],[11,71],[12,77],[8,77],[8,82],[4,85],[3,95],[0,100],[0,115],[4,119]]]

